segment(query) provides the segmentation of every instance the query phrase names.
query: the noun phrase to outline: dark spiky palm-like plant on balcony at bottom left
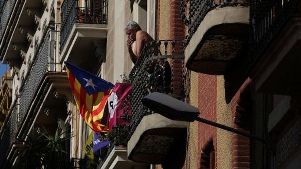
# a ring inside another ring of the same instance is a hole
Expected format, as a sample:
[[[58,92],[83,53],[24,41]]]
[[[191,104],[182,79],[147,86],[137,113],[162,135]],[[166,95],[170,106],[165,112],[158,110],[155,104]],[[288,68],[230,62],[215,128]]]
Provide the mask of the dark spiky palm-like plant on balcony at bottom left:
[[[50,135],[44,128],[41,134],[35,133],[24,141],[25,147],[19,151],[21,168],[53,169],[68,168],[69,158],[64,151],[66,141],[70,139],[69,134],[62,132],[58,127],[54,136]]]

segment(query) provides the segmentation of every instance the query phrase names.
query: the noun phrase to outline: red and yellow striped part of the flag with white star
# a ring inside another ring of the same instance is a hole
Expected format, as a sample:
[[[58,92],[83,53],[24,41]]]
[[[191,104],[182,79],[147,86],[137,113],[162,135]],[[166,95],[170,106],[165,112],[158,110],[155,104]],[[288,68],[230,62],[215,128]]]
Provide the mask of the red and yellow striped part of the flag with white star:
[[[112,89],[110,91],[89,95],[68,68],[66,69],[77,108],[80,110],[80,115],[94,131],[108,132],[109,128],[101,124],[101,119],[104,115],[105,105]]]

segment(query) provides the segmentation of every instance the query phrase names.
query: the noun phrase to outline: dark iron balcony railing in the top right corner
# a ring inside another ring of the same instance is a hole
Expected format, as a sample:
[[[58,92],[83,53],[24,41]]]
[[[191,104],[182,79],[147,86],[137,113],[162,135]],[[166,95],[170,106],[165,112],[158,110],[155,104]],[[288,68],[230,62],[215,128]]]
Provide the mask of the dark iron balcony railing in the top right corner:
[[[253,0],[250,22],[253,26],[253,62],[263,52],[283,24],[295,13],[299,0]]]

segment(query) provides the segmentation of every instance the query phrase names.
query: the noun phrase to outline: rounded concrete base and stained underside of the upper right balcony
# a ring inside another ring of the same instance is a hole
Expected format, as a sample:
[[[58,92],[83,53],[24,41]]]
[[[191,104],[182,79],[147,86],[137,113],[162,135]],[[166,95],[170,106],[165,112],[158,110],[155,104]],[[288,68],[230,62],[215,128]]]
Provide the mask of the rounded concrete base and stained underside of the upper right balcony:
[[[222,75],[248,42],[249,7],[226,6],[209,11],[186,49],[186,67],[190,70]]]

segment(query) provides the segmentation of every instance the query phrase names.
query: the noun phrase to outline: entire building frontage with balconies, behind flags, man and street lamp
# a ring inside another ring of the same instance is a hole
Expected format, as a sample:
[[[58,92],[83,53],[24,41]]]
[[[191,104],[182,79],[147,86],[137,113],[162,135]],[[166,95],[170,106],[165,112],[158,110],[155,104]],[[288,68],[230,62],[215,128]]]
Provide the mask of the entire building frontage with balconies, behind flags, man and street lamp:
[[[54,135],[59,126],[70,133],[64,145],[70,168],[300,168],[299,5],[4,0],[0,60],[9,68],[0,91],[0,167],[20,166],[31,134]],[[155,40],[135,65],[123,31],[131,20]],[[154,86],[150,76],[162,66],[159,60],[169,64],[171,77],[163,75],[168,84]],[[94,160],[87,158],[92,130],[76,108],[64,61],[112,83],[125,74],[132,83],[123,105],[130,122],[126,145],[114,141]],[[142,104],[154,91],[264,141],[167,119]]]

